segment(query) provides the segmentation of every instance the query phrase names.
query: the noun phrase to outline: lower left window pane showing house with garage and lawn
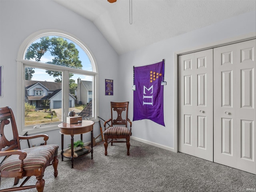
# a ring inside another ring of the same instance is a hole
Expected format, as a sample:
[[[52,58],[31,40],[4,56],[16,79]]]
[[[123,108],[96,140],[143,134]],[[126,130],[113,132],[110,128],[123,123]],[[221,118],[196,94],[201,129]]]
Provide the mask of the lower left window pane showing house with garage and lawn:
[[[25,67],[25,127],[62,122],[62,72]]]

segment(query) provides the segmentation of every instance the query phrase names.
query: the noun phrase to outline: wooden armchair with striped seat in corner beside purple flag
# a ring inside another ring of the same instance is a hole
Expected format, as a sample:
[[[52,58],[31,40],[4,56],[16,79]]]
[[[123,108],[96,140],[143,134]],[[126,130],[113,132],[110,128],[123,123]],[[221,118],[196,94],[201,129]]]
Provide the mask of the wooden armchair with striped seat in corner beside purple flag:
[[[111,145],[113,142],[126,142],[127,155],[130,155],[130,136],[132,135],[132,122],[128,119],[128,104],[129,102],[110,102],[111,105],[111,118],[104,122],[104,147],[105,155],[108,154],[108,139],[110,138]],[[117,113],[115,113],[115,111]],[[122,116],[122,112],[123,115]],[[116,115],[114,115],[114,113]],[[114,119],[116,118],[116,119]],[[106,124],[111,121],[111,125],[106,128]],[[127,122],[130,123],[130,129],[127,128]],[[116,140],[118,138],[124,138],[124,140]],[[113,140],[115,139],[115,140]]]

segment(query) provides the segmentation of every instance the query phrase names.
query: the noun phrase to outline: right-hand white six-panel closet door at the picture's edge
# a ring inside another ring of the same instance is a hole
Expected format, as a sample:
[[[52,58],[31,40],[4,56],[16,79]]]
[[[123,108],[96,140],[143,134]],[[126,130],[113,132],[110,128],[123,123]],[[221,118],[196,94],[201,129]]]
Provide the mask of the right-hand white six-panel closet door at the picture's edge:
[[[256,40],[214,48],[214,162],[256,174]]]

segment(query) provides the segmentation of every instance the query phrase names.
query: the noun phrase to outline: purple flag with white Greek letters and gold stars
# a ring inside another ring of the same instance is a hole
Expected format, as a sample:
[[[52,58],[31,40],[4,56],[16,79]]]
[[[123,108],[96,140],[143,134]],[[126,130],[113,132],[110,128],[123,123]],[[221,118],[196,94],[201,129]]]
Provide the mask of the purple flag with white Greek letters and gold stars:
[[[150,119],[164,125],[164,60],[134,67],[133,120]]]

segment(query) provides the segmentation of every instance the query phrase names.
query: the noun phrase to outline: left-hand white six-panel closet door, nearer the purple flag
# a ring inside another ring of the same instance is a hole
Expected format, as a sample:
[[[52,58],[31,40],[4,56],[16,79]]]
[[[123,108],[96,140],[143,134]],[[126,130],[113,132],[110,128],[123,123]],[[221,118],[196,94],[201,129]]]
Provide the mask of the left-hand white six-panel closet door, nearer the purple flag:
[[[179,151],[213,161],[212,49],[179,56]]]

